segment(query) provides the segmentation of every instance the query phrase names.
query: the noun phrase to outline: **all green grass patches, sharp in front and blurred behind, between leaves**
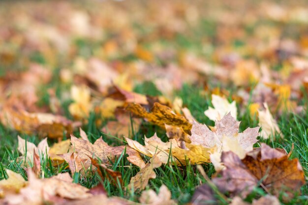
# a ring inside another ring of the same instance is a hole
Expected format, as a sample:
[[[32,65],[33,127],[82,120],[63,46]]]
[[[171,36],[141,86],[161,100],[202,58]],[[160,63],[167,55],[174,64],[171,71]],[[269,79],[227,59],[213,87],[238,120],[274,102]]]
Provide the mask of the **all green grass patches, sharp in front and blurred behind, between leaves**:
[[[253,3],[250,1],[250,3]],[[87,5],[84,2],[81,3],[81,8],[84,9],[90,7],[91,5]],[[209,5],[209,11],[211,11],[211,5]],[[5,10],[5,6],[0,6],[0,11]],[[89,10],[91,10],[89,8]],[[146,10],[146,9],[145,9]],[[5,13],[5,12],[4,12]],[[201,12],[203,14],[207,13],[207,10]],[[201,14],[200,13],[200,14]],[[2,12],[3,15],[3,12]],[[168,39],[164,37],[158,36],[156,39],[153,40],[153,36],[151,36],[151,32],[153,28],[148,28],[144,22],[142,24],[139,22],[134,23],[135,25],[132,27],[134,31],[140,33],[138,37],[137,43],[141,43],[142,46],[145,48],[150,48],[154,42],[159,42],[163,48],[172,48],[175,52],[192,52],[196,54],[197,57],[200,59],[204,59],[208,62],[220,63],[217,61],[216,57],[216,49],[223,48],[223,43],[219,42],[217,39],[217,34],[219,32],[219,27],[221,23],[217,22],[216,19],[211,18],[203,18],[200,17],[199,22],[195,26],[189,27],[184,33],[177,33],[174,36],[174,39]],[[299,25],[290,24],[281,25],[272,20],[268,19],[257,19],[256,22],[253,24],[244,25],[245,32],[247,34],[247,38],[244,39],[232,39],[230,43],[230,48],[232,52],[236,52],[237,50],[246,47],[249,45],[248,41],[249,36],[254,36],[255,31],[259,29],[259,26],[271,26],[276,29],[281,29],[283,31],[283,35],[294,40],[298,40],[300,36],[302,36],[303,31],[301,29],[305,29],[304,27],[300,27]],[[293,26],[293,27],[292,27]],[[292,27],[292,28],[291,28]],[[292,32],[287,32],[292,31]],[[102,42],[107,42],[110,39],[117,40],[117,32],[109,31],[108,29],[104,28],[104,35],[105,37],[101,37],[102,39],[95,41],[90,39],[83,39],[78,38],[73,40],[71,43],[76,48],[76,56],[69,57],[63,54],[55,54],[56,55],[56,63],[53,69],[53,79],[52,81],[45,86],[42,86],[38,90],[38,96],[40,96],[38,106],[46,106],[49,104],[50,98],[48,95],[48,88],[55,88],[56,95],[59,99],[62,99],[61,95],[64,92],[69,92],[71,84],[63,84],[59,79],[59,72],[60,68],[69,68],[73,64],[73,60],[75,57],[82,57],[88,60],[92,57],[97,57],[95,51],[100,48],[103,44]],[[227,35],[227,34],[226,34]],[[303,34],[304,36],[304,34]],[[12,46],[14,45],[12,42],[6,40],[3,42],[3,45]],[[12,45],[11,45],[12,44]],[[2,45],[2,44],[1,44]],[[227,45],[225,45],[229,48]],[[0,47],[2,48],[2,47]],[[25,49],[27,51],[27,49]],[[5,64],[5,62],[0,61],[0,77],[4,77],[7,70],[12,71],[25,71],[28,67],[25,67],[27,64],[24,63],[23,60],[29,59],[31,62],[40,63],[44,66],[49,67],[48,59],[45,59],[44,55],[38,51],[25,53],[21,48],[15,48],[11,51],[16,55],[16,60],[13,61],[11,64]],[[56,52],[56,51],[55,51]],[[246,54],[242,56],[243,58],[255,59],[257,62],[263,62],[264,60],[269,60],[270,67],[273,70],[279,70],[282,68],[282,62],[271,62],[271,59],[259,59],[258,56],[255,56],[254,53]],[[175,55],[170,61],[178,65],[179,59],[178,56]],[[123,62],[129,63],[139,60],[133,53],[122,53],[122,50],[119,49],[119,54],[116,57],[112,57],[111,59],[104,59],[107,63],[112,62]],[[167,62],[158,59],[155,57],[155,62],[153,68],[155,66],[164,66],[168,65],[170,62]],[[181,65],[179,65],[181,66]],[[211,76],[202,76],[202,80],[199,82],[198,85],[184,85],[182,89],[175,91],[175,96],[179,96],[183,99],[183,104],[187,107],[191,114],[202,123],[205,123],[209,126],[214,126],[214,122],[211,121],[208,117],[204,115],[204,111],[211,106],[211,99],[210,94],[202,94],[204,93],[203,85],[207,85],[208,87],[219,87],[220,83],[222,82],[215,82],[211,81]],[[218,85],[217,85],[218,84]],[[225,87],[224,87],[225,88]],[[228,91],[230,91],[230,96],[236,90],[236,88],[232,85],[228,87]],[[160,95],[161,92],[155,88],[154,83],[152,82],[144,82],[139,85],[135,85],[134,91],[138,93],[143,93],[147,95]],[[292,145],[294,145],[294,150],[291,155],[292,158],[298,158],[306,176],[306,182],[308,181],[308,96],[307,92],[303,92],[304,97],[303,100],[299,102],[300,105],[303,105],[306,110],[301,114],[293,114],[293,113],[284,113],[280,117],[277,118],[277,123],[281,129],[284,138],[280,138],[278,135],[275,136],[276,140],[263,140],[260,141],[255,145],[256,147],[259,146],[259,143],[266,143],[272,147],[279,147],[285,149],[287,152],[291,150]],[[229,96],[229,98],[230,98]],[[62,102],[62,109],[64,112],[64,116],[73,119],[68,111],[68,106],[72,101],[70,99],[65,100]],[[101,133],[100,127],[96,127],[95,120],[98,116],[95,116],[93,113],[90,115],[89,119],[87,120],[87,124],[83,124],[83,130],[88,134],[89,140],[93,143],[96,139],[100,136],[103,137],[103,140],[108,143],[110,146],[120,146],[125,145],[123,143],[122,138],[118,138],[117,136],[108,136],[106,134]],[[276,117],[276,115],[274,115]],[[247,127],[255,127],[258,125],[258,121],[253,119],[249,116],[249,111],[246,110],[243,112],[242,115],[238,116],[238,119],[242,121],[240,125],[240,131],[245,130]],[[104,122],[106,123],[106,121]],[[133,139],[144,144],[144,136],[151,137],[154,132],[163,140],[167,140],[167,136],[165,131],[155,126],[149,122],[143,121],[140,130],[134,130]],[[23,160],[18,160],[20,153],[17,150],[17,136],[20,135],[22,138],[27,139],[27,141],[34,143],[37,145],[40,139],[35,135],[26,135],[18,133],[14,130],[11,130],[3,125],[0,124],[0,179],[6,178],[7,175],[5,173],[5,169],[10,169],[14,172],[20,173],[24,178],[27,179],[27,175],[23,166]],[[79,136],[79,132],[74,132],[75,136]],[[66,137],[63,137],[66,139]],[[48,140],[49,145],[51,146],[56,141]],[[67,164],[61,164],[59,166],[54,167],[52,162],[49,158],[41,157],[41,167],[42,173],[44,177],[51,177],[55,176],[59,173],[70,173],[70,170],[67,168]],[[24,159],[25,160],[25,159]],[[148,157],[145,157],[146,161],[149,161]],[[115,171],[119,171],[122,173],[123,178],[123,187],[126,187],[129,184],[129,181],[132,176],[135,176],[136,173],[140,170],[138,167],[131,165],[126,157],[125,153],[121,155],[116,161],[111,162],[112,167],[111,169]],[[211,178],[214,173],[215,169],[212,164],[204,164],[202,165],[203,169],[205,170],[206,174]],[[207,183],[207,179],[202,176],[195,165],[187,165],[187,166],[175,166],[172,163],[170,165],[162,165],[160,168],[155,169],[156,178],[151,179],[147,189],[154,189],[158,191],[159,187],[162,184],[165,184],[168,189],[172,193],[172,198],[175,199],[180,205],[184,205],[191,200],[191,197],[196,190],[196,188],[203,184]],[[99,183],[102,183],[107,191],[109,196],[120,196],[132,201],[138,201],[140,196],[140,192],[132,192],[127,191],[121,186],[113,185],[108,179],[102,180],[97,173],[92,173],[86,171],[86,174],[81,176],[80,174],[75,174],[73,176],[74,182],[80,183],[85,187],[91,188],[96,186]],[[251,193],[247,197],[247,201],[252,201],[254,198],[258,198],[266,193],[260,189],[256,188],[253,193]],[[221,198],[219,193],[216,193],[216,197],[220,204],[226,205],[229,201],[225,201],[225,199]],[[301,188],[301,195],[296,196],[293,200],[285,205],[308,205],[308,184],[306,183]]]

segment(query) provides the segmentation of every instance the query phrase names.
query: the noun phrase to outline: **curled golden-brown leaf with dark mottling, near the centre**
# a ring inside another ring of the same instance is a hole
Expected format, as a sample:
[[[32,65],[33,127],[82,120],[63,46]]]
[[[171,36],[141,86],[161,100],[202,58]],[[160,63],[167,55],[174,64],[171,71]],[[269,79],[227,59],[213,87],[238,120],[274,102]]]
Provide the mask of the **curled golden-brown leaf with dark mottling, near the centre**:
[[[185,119],[184,116],[174,114],[171,108],[157,102],[154,103],[151,113],[148,113],[141,105],[133,103],[128,104],[126,110],[132,112],[138,117],[146,118],[149,122],[152,122],[162,128],[165,127],[165,124],[168,124],[182,127],[185,132],[190,133],[192,125]]]

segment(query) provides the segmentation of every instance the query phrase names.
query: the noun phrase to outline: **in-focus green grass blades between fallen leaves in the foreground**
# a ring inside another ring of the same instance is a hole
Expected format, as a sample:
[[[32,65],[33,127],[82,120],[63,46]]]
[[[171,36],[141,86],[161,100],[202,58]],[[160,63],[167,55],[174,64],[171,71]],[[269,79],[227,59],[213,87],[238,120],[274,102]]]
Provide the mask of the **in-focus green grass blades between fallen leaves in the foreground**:
[[[152,86],[150,86],[151,88]],[[152,87],[153,88],[153,87]],[[143,90],[137,91],[143,93],[155,93],[155,90],[148,90],[145,88]],[[187,106],[192,114],[197,118],[197,120],[204,122],[208,125],[213,125],[205,115],[203,114],[204,110],[210,105],[209,99],[200,95],[200,90],[190,86],[184,86],[183,89],[179,90],[177,94],[181,96],[184,100],[185,106]],[[257,125],[255,120],[252,120],[247,115],[243,117],[239,117],[242,120],[241,130],[246,129],[247,126],[254,127]],[[109,145],[119,146],[123,144],[122,140],[118,140],[116,137],[108,137],[103,135],[99,129],[95,126],[94,123],[95,116],[91,115],[89,117],[89,123],[83,126],[83,129],[88,134],[90,141],[95,141],[101,135],[104,140],[108,142]],[[260,140],[260,142],[265,142],[268,145],[273,147],[284,148],[286,151],[290,151],[292,144],[294,144],[294,150],[292,152],[291,158],[299,158],[305,174],[306,178],[308,176],[308,113],[304,113],[303,115],[295,115],[295,114],[285,114],[278,119],[279,127],[284,135],[284,138],[281,139],[279,136],[275,142],[271,142],[270,140],[264,141]],[[160,128],[153,126],[147,122],[143,123],[143,129],[135,130],[134,139],[140,143],[143,143],[143,136],[146,134],[148,137],[154,133],[154,131],[159,133],[159,136],[162,139],[165,139],[164,131]],[[143,130],[146,130],[148,133],[144,133]],[[150,133],[150,134],[149,134]],[[19,153],[17,151],[17,135],[16,131],[9,130],[2,125],[0,125],[0,179],[7,177],[5,174],[5,169],[10,169],[14,172],[22,174],[25,178],[26,172],[24,170],[23,162],[17,161]],[[76,136],[79,136],[79,133],[75,133]],[[36,136],[29,135],[21,135],[23,138],[26,138],[27,141],[33,142],[37,145],[39,139]],[[53,142],[50,141],[51,145]],[[69,169],[66,168],[66,164],[62,164],[58,167],[52,166],[52,163],[49,158],[41,157],[41,165],[42,165],[42,173],[44,177],[51,177],[57,175],[58,173],[70,172]],[[145,158],[149,160],[148,157]],[[211,164],[202,165],[207,175],[211,177],[214,173],[214,167]],[[111,169],[115,171],[119,171],[123,175],[123,183],[126,187],[129,184],[130,178],[135,176],[139,171],[139,168],[131,165],[127,160],[123,153],[114,163]],[[180,205],[188,203],[193,195],[197,186],[202,183],[206,183],[206,179],[201,175],[201,173],[197,170],[195,165],[187,165],[187,166],[175,166],[175,165],[162,165],[160,168],[155,169],[156,178],[150,180],[148,189],[158,190],[162,184],[165,184],[172,193],[172,198],[177,200]],[[127,191],[121,186],[112,185],[108,179],[101,180],[100,177],[92,172],[86,172],[84,176],[80,176],[79,174],[74,175],[74,181],[82,184],[85,187],[91,188],[98,183],[102,183],[106,188],[106,191],[109,196],[120,196],[129,200],[137,201],[140,196],[140,192],[132,192]],[[288,205],[299,205],[299,204],[307,204],[308,200],[308,185],[304,185],[302,187],[302,195],[294,198]],[[252,200],[255,197],[264,195],[264,191],[260,189],[256,189],[253,193],[248,196],[248,200]],[[219,198],[219,196],[217,195]],[[223,199],[220,199],[221,204],[223,203]]]

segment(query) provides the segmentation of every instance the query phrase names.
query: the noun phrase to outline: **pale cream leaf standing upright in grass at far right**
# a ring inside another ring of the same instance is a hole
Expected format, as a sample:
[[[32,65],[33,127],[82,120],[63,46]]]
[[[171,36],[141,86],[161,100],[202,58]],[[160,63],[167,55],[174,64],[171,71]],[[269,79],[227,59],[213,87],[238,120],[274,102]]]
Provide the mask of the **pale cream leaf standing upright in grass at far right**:
[[[266,103],[264,103],[265,110],[264,111],[258,111],[259,114],[259,125],[262,128],[261,136],[264,139],[270,138],[273,134],[279,133],[280,129],[277,125],[276,120],[273,118],[273,116],[270,113],[269,107]],[[275,135],[273,135],[274,137]],[[282,134],[280,134],[281,137],[283,137]]]

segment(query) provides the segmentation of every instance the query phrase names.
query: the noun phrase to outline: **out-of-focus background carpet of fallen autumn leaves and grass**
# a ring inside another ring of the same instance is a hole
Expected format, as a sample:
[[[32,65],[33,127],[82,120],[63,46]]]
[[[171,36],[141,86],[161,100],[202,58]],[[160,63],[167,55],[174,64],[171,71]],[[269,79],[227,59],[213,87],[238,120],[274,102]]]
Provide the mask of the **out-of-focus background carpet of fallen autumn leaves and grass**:
[[[63,99],[73,84],[170,99],[189,84],[236,88],[240,102],[262,82],[297,99],[308,85],[307,26],[305,0],[2,0],[0,90],[30,105]]]

